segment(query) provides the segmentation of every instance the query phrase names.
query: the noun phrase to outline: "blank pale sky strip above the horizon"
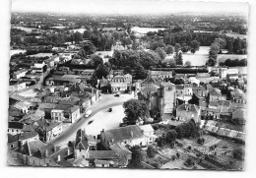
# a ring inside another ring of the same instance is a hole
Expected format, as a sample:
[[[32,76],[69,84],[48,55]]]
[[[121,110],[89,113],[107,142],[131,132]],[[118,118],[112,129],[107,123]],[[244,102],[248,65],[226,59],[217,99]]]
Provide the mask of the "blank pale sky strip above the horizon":
[[[248,13],[247,3],[172,0],[12,0],[12,12],[85,14]]]

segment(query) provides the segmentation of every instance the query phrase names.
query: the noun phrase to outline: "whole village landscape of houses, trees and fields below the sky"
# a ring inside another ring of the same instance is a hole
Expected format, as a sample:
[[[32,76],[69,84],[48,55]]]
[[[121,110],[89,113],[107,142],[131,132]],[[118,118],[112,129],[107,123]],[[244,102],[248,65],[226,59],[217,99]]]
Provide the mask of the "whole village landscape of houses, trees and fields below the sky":
[[[243,170],[244,13],[12,10],[8,165]]]

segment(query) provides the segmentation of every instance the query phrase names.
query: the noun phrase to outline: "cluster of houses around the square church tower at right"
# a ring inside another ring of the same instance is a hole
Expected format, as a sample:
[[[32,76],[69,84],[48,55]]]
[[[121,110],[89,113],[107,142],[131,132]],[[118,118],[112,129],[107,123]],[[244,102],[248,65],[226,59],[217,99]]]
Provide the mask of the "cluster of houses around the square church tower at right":
[[[166,71],[151,71],[149,77],[141,84],[138,98],[146,101],[149,110],[157,109],[160,115],[171,118],[167,122],[170,125],[176,125],[177,122],[187,122],[191,119],[199,124],[206,120],[214,120],[219,124],[228,123],[225,124],[226,127],[222,126],[219,129],[231,127],[232,129],[227,130],[244,136],[243,127],[246,122],[245,89],[229,83],[228,75],[237,72],[237,70],[220,68],[219,71],[218,80],[216,76],[210,77],[209,74],[187,77],[187,75],[172,76],[171,72],[167,73]],[[176,76],[177,79],[183,79],[184,84],[174,85],[168,82],[169,78],[176,78]],[[194,79],[191,80],[191,78]],[[220,82],[223,83],[219,85]],[[222,89],[227,89],[228,93],[223,93]],[[207,130],[213,133],[209,127],[208,123]],[[221,132],[215,134],[224,136]],[[232,139],[244,142],[244,137],[234,136]]]

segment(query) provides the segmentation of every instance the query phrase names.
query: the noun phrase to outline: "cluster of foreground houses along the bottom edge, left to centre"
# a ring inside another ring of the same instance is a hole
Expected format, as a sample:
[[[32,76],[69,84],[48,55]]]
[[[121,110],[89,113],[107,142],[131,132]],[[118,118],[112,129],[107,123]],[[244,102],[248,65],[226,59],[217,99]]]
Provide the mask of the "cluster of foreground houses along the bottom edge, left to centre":
[[[26,132],[22,125],[20,128],[20,135],[8,135],[8,144],[23,164],[32,166],[126,167],[132,159],[129,148],[147,147],[158,138],[151,125],[102,130],[97,138],[79,129],[75,140],[60,148],[41,142],[36,132]]]

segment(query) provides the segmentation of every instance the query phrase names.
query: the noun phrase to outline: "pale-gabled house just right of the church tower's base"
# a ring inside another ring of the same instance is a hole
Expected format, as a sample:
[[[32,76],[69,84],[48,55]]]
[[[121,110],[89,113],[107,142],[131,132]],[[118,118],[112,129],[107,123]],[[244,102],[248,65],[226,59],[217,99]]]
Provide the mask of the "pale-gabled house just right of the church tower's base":
[[[201,108],[195,104],[184,103],[176,109],[176,118],[178,121],[187,122],[193,119],[195,123],[199,123],[201,121],[200,116]]]

